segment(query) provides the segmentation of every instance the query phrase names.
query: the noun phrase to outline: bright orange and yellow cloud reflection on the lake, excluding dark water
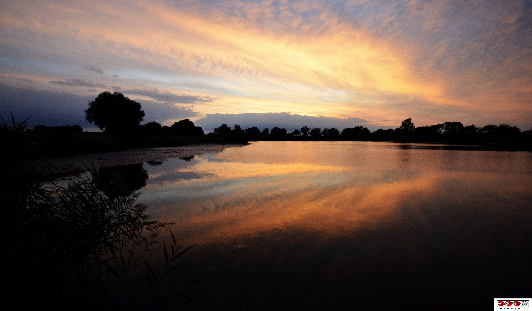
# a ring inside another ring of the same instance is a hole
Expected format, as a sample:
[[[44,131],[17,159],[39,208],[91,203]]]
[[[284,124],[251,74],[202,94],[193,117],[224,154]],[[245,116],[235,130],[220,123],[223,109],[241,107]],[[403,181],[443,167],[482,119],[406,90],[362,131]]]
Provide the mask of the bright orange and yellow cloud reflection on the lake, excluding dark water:
[[[269,148],[279,145],[294,152]],[[287,226],[341,235],[394,222],[398,208],[436,209],[437,202],[465,202],[472,194],[504,197],[508,187],[527,193],[528,174],[476,169],[500,154],[477,154],[474,163],[456,154],[382,143],[260,142],[190,163],[175,160],[184,166],[151,173],[141,200],[155,219],[176,222],[185,240],[209,243]]]

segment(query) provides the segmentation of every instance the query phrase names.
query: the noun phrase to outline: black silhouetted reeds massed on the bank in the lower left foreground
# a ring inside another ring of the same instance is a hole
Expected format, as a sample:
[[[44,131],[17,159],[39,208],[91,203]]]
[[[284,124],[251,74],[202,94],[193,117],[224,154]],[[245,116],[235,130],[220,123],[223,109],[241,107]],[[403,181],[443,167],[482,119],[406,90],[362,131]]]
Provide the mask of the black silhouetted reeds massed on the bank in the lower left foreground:
[[[142,164],[90,173],[94,177],[61,179],[53,169],[2,168],[9,248],[2,264],[10,296],[57,309],[168,308],[190,301],[173,286],[159,287],[188,248],[181,250],[172,234],[162,264],[153,258],[159,234],[172,224],[149,220],[146,206],[135,202],[148,177]]]

